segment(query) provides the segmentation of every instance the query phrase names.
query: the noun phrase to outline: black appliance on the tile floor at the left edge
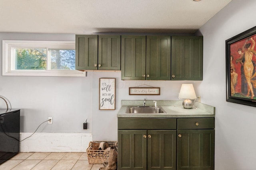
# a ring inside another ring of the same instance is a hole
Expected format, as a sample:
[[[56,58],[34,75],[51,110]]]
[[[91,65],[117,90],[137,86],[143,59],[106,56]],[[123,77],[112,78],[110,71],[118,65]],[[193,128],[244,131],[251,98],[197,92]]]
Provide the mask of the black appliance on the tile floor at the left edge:
[[[0,164],[20,151],[20,109],[0,109]]]

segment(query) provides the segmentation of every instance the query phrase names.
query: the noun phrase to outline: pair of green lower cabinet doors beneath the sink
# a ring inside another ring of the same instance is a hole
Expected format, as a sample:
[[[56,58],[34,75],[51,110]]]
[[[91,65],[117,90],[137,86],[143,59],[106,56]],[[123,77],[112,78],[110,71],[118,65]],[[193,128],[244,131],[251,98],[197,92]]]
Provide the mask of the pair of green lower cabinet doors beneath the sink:
[[[118,130],[118,170],[176,170],[176,130]]]

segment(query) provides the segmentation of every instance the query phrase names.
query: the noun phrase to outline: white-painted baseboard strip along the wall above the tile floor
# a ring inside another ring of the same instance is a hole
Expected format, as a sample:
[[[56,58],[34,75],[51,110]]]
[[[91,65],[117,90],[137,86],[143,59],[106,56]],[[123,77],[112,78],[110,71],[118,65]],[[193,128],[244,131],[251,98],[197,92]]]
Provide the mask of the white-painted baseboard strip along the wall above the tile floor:
[[[20,141],[32,133],[20,133]],[[20,142],[20,152],[86,152],[91,133],[35,133]]]

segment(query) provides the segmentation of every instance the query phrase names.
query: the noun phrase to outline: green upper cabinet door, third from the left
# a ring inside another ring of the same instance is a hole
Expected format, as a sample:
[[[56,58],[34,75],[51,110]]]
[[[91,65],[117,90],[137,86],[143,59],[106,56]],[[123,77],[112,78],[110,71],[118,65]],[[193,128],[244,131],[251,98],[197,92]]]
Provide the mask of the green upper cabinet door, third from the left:
[[[122,36],[121,79],[146,80],[146,36]]]

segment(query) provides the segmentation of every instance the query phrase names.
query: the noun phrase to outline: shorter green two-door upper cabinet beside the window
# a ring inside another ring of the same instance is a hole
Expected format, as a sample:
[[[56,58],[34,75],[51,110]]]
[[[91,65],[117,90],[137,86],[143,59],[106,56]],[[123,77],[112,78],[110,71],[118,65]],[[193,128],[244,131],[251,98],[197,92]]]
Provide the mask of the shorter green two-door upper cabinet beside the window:
[[[120,70],[120,35],[76,35],[76,70]]]

